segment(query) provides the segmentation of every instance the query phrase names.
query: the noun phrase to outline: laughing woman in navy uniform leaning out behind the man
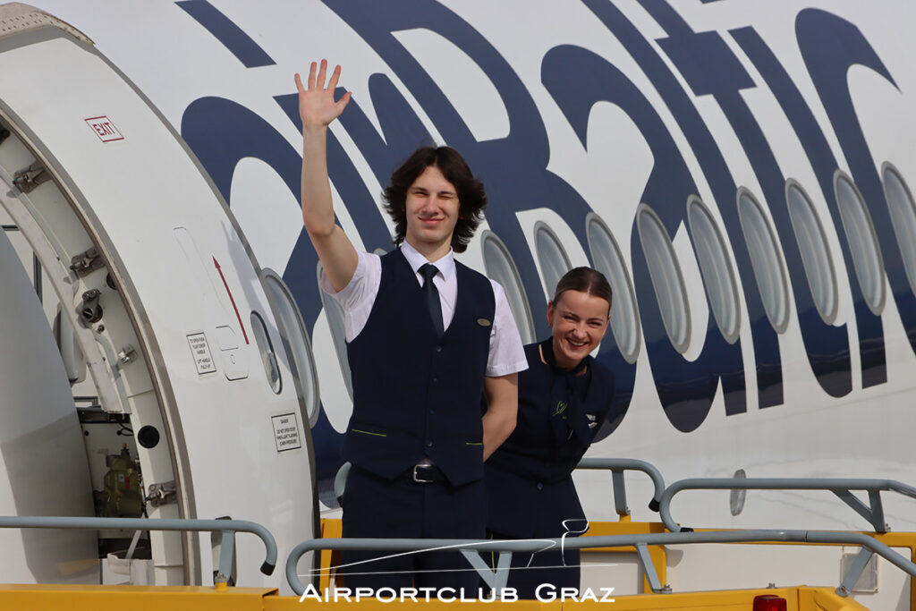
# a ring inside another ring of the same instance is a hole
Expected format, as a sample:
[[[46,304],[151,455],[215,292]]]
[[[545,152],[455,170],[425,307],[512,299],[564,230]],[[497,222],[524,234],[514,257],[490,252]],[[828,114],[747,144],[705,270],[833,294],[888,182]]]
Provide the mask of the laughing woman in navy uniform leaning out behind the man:
[[[485,463],[487,530],[493,539],[560,538],[587,529],[573,469],[614,398],[614,376],[590,353],[610,320],[611,287],[590,267],[557,284],[547,306],[551,337],[525,346],[518,424]],[[579,587],[579,551],[515,553],[507,586],[535,598],[540,584]]]

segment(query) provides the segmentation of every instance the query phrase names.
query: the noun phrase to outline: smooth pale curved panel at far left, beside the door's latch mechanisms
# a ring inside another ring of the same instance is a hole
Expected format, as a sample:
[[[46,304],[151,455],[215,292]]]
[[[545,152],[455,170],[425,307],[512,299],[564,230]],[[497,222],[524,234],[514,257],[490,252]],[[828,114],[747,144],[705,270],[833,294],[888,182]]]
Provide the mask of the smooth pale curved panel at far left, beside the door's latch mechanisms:
[[[67,373],[5,231],[0,346],[0,515],[92,516],[92,486]],[[0,529],[0,550],[7,583],[98,582],[92,532]]]

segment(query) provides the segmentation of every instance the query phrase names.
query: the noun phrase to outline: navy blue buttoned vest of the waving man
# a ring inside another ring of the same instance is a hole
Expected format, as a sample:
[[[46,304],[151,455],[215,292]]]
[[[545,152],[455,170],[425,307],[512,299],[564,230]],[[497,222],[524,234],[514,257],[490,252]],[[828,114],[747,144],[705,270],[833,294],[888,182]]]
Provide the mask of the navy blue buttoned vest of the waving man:
[[[485,276],[455,262],[458,299],[437,338],[400,250],[382,256],[376,302],[347,346],[353,416],[344,458],[394,479],[429,457],[453,486],[484,476],[480,398],[496,301]]]

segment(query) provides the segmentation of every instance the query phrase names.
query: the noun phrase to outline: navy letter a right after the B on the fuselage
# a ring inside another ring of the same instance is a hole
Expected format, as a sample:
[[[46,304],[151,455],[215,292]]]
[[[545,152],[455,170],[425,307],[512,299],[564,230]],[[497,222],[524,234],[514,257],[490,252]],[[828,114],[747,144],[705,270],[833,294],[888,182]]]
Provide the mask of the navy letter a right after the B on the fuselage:
[[[642,193],[642,201],[659,214],[669,235],[676,233],[678,227],[686,222],[684,202],[690,193],[697,191],[696,184],[668,128],[637,86],[606,60],[578,47],[551,49],[543,60],[541,74],[544,85],[573,125],[583,147],[586,145],[589,113],[595,103],[616,104],[633,120],[646,138],[655,162]],[[638,203],[632,202],[634,209]],[[636,224],[633,225],[631,244],[633,280],[646,351],[668,420],[684,432],[700,426],[712,406],[720,377],[725,395],[725,413],[746,411],[740,343],[725,342],[710,313],[705,321],[703,353],[692,362],[684,359],[665,332]]]

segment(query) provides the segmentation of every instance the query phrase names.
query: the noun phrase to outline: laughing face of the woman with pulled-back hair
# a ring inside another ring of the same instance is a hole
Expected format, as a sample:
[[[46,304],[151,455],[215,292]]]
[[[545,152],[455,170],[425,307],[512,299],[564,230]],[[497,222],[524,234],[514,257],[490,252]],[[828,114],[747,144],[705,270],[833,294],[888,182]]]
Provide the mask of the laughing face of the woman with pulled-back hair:
[[[611,305],[604,298],[581,290],[565,290],[547,306],[553,330],[553,356],[557,365],[573,369],[589,355],[607,331]]]

